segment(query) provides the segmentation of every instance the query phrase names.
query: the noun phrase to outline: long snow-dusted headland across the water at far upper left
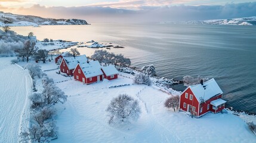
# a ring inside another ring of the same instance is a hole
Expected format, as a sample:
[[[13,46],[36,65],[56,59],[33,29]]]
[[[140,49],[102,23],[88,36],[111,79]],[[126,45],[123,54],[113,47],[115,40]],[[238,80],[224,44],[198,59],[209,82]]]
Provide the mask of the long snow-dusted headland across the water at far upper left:
[[[39,26],[39,25],[87,25],[79,19],[42,18],[32,15],[17,15],[0,11],[0,26]]]

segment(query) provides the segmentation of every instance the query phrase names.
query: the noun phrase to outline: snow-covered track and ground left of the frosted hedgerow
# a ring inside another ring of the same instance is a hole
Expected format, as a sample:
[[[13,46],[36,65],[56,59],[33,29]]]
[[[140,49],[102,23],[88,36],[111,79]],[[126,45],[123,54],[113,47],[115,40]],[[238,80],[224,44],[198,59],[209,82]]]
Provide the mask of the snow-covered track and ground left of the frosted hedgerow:
[[[18,142],[23,113],[28,113],[27,97],[31,80],[27,70],[0,58],[0,142]]]

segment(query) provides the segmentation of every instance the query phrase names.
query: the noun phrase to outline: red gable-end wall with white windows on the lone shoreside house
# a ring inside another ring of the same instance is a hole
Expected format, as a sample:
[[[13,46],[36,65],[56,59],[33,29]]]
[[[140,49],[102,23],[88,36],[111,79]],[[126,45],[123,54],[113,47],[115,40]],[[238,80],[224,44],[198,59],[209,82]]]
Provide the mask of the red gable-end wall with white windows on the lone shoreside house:
[[[188,97],[186,98],[185,95],[186,93],[188,93]],[[190,94],[193,95],[193,98],[192,100],[190,100]],[[186,107],[184,108],[183,107],[183,103],[186,102]],[[198,100],[196,99],[195,95],[193,94],[193,92],[191,91],[190,88],[187,88],[187,90],[185,92],[183,92],[183,94],[180,95],[180,108],[184,111],[187,111],[187,105],[192,105],[192,107],[196,107],[195,109],[195,112],[193,112],[194,115],[198,116],[198,105],[199,105],[199,102]],[[191,107],[191,110],[192,110],[192,107]]]

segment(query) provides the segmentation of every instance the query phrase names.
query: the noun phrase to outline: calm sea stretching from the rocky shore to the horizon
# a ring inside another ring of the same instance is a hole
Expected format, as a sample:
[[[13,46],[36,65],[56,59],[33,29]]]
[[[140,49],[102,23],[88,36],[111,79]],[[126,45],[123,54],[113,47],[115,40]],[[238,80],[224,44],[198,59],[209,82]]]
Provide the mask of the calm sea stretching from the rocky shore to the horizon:
[[[131,58],[135,67],[154,64],[161,77],[214,77],[229,106],[256,113],[256,26],[92,24],[11,29],[21,35],[33,32],[39,40],[93,39],[125,46],[110,51]],[[88,56],[94,52],[79,50]]]

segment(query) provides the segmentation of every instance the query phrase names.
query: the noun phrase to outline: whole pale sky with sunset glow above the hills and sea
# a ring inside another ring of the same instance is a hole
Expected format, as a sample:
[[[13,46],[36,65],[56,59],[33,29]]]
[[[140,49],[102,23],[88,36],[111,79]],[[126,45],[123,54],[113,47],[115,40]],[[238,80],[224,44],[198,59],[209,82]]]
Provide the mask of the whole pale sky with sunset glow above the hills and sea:
[[[0,0],[0,11],[97,22],[161,22],[256,16],[256,0]]]

